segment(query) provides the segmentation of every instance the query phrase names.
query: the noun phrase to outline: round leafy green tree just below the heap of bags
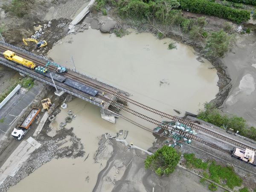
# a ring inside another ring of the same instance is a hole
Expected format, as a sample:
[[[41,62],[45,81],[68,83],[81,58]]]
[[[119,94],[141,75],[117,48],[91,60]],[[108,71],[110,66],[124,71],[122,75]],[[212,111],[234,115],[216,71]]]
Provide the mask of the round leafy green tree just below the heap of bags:
[[[169,146],[163,145],[151,156],[144,161],[145,169],[152,169],[157,175],[169,176],[174,172],[175,167],[179,163],[180,154]]]

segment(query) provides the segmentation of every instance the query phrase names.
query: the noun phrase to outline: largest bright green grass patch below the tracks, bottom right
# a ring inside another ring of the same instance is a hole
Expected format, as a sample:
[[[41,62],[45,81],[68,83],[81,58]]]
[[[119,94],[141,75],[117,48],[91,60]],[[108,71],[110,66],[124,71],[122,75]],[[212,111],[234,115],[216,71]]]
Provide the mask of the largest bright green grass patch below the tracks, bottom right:
[[[241,186],[242,179],[236,175],[232,167],[224,167],[216,165],[216,162],[213,161],[209,166],[210,179],[215,183],[220,183],[220,180],[224,180],[226,185],[233,189],[235,186]]]

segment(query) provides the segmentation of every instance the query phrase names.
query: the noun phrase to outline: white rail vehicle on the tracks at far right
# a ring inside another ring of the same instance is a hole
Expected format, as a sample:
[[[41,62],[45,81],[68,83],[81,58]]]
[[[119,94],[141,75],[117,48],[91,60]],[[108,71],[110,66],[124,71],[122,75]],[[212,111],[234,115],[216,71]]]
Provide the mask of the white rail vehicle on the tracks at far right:
[[[246,163],[249,163],[253,166],[256,166],[255,160],[255,151],[252,151],[248,148],[244,150],[241,150],[240,148],[234,148],[231,151],[231,156],[236,157],[239,160],[245,161]]]

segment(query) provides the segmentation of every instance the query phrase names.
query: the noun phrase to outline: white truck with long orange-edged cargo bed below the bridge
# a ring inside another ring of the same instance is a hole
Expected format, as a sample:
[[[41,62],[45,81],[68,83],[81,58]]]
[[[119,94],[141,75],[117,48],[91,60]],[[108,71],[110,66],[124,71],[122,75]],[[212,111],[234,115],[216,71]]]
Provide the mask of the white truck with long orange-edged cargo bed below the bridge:
[[[18,128],[14,128],[12,131],[12,137],[14,137],[16,140],[21,140],[31,128],[32,122],[38,118],[39,112],[39,108],[32,108],[29,115],[26,116],[21,125],[19,125]]]

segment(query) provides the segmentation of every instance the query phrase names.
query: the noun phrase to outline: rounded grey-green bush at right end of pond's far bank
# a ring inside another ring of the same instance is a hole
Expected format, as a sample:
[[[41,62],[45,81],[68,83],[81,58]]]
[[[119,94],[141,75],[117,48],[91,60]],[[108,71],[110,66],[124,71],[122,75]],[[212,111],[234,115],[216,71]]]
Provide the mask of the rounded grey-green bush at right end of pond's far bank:
[[[228,35],[223,29],[218,32],[212,32],[209,38],[207,38],[207,55],[211,57],[223,57],[225,52],[230,50],[233,40],[233,35]]]

